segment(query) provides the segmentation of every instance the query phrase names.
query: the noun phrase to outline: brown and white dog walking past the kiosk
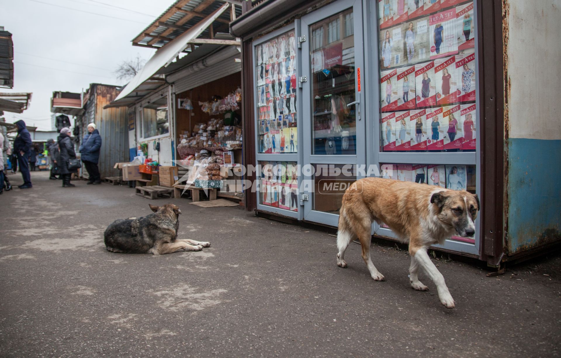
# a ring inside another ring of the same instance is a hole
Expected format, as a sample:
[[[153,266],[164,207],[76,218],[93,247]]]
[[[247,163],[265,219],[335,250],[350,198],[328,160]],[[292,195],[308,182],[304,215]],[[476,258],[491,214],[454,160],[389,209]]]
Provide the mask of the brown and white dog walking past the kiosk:
[[[384,281],[384,276],[370,259],[370,242],[372,222],[385,223],[401,240],[409,243],[411,287],[427,290],[417,277],[421,266],[436,284],[440,303],[454,308],[444,277],[426,251],[430,245],[444,244],[454,233],[464,237],[475,235],[474,221],[478,210],[479,198],[467,191],[383,178],[357,180],[343,195],[339,210],[337,265],[347,267],[343,258],[345,250],[358,237],[362,259],[371,277]]]

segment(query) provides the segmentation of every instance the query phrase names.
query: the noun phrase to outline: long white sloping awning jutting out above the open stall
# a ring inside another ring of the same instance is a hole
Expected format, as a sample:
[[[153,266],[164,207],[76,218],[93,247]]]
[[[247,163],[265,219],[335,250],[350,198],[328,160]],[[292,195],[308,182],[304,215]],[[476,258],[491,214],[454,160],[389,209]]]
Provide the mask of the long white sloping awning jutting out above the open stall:
[[[158,49],[154,56],[152,56],[146,65],[133,77],[133,79],[128,82],[125,88],[119,93],[117,98],[114,99],[113,102],[117,102],[119,99],[127,97],[127,95],[134,92],[136,88],[138,88],[144,81],[150,79],[150,77],[154,76],[156,72],[163,66],[169,65],[173,61],[174,58],[179,56],[179,54],[187,48],[189,43],[196,39],[203,31],[210,26],[218,18],[218,16],[222,15],[224,11],[229,8],[229,3],[224,3],[218,10],[211,13],[206,19],[200,21],[195,26],[191,27],[185,33],[177,36],[177,38],[173,39],[164,47]]]

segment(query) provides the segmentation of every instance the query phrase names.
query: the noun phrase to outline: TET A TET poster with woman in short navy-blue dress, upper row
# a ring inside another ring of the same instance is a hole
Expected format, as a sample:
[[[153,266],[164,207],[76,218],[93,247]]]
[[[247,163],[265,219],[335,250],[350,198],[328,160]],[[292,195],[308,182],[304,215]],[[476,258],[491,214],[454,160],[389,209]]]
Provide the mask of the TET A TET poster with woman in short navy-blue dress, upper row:
[[[458,52],[456,8],[429,16],[430,58],[448,57]]]

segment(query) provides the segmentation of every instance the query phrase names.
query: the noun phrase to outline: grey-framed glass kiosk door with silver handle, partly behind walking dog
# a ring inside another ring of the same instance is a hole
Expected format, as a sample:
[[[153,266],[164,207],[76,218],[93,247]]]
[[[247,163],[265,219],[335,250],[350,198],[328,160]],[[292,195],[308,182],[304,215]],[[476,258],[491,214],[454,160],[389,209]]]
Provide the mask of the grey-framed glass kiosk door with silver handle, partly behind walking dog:
[[[344,191],[366,162],[361,1],[306,15],[301,34],[304,219],[337,226]]]

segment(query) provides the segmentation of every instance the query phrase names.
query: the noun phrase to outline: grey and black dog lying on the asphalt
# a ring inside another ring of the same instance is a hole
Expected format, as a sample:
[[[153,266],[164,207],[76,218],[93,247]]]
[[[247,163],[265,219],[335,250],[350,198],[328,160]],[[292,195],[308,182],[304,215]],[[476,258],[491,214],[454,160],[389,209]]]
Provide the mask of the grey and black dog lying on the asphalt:
[[[181,210],[173,204],[150,205],[153,214],[140,218],[118,219],[103,234],[107,251],[130,254],[171,254],[200,251],[210,242],[178,240]]]

